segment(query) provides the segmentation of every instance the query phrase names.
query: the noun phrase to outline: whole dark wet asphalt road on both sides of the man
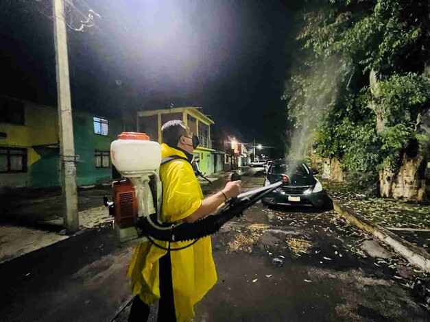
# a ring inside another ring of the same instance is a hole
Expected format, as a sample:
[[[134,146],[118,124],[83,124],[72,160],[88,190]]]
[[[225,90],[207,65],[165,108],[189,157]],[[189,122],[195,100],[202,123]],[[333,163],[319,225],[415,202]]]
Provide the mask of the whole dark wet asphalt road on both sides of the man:
[[[262,185],[258,170],[243,177]],[[99,227],[1,264],[0,321],[110,321],[121,308],[126,321],[131,254]],[[412,269],[333,211],[257,203],[213,236],[213,255],[218,282],[195,321],[429,321],[398,276]]]

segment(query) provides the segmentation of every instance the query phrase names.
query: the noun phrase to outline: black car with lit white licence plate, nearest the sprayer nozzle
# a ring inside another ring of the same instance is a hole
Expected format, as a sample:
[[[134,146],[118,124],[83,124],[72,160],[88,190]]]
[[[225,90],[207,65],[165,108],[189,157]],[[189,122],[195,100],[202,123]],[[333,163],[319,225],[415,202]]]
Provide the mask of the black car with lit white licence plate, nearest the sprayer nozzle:
[[[265,186],[285,175],[289,177],[289,182],[266,195],[261,202],[265,206],[324,206],[327,196],[321,182],[313,176],[317,173],[302,162],[275,160],[266,173]]]

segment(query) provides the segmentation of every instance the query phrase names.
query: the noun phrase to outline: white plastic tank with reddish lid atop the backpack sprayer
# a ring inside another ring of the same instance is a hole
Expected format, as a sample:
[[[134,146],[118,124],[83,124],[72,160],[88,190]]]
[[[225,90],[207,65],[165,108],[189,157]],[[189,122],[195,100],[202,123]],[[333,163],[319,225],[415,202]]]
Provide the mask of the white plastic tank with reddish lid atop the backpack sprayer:
[[[145,133],[123,132],[110,144],[110,159],[124,177],[139,177],[158,170],[161,146]]]

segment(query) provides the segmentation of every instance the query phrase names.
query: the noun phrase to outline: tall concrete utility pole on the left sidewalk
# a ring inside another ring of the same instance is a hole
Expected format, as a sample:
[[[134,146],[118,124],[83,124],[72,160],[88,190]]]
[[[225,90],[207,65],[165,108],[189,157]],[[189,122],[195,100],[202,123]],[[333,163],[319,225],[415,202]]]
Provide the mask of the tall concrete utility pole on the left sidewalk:
[[[62,187],[63,220],[67,232],[79,230],[77,213],[75,145],[67,53],[67,29],[64,23],[63,0],[53,0],[53,38],[56,49],[58,125],[60,129],[60,184]]]

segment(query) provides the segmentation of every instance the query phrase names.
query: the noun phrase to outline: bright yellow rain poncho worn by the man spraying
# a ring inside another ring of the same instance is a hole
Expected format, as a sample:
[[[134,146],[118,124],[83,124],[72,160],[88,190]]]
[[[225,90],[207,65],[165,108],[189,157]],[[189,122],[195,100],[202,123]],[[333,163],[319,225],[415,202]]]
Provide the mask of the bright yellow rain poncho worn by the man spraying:
[[[162,158],[174,155],[186,158],[182,151],[161,145]],[[164,221],[180,221],[200,208],[203,193],[191,164],[185,160],[167,162],[160,167],[160,178],[163,182]],[[168,247],[167,242],[158,240],[157,243]],[[171,243],[171,248],[189,243]],[[166,253],[149,242],[137,245],[134,251],[128,275],[132,280],[133,294],[139,295],[146,304],[152,305],[160,298],[158,260]],[[194,245],[170,254],[176,319],[190,321],[194,317],[194,305],[217,282],[211,237],[201,238]]]

